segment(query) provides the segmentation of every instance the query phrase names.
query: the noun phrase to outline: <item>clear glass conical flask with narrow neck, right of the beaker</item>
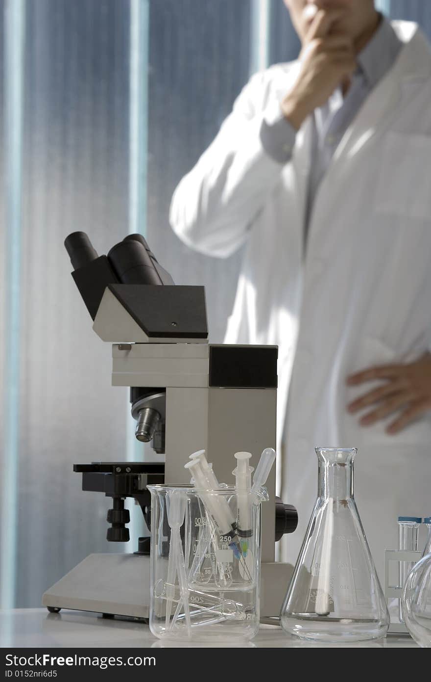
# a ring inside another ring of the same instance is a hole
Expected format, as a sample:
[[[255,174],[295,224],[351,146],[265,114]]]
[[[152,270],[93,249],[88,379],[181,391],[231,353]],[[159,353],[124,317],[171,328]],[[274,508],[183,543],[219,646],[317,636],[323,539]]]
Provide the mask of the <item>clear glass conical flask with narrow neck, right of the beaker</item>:
[[[353,497],[356,448],[317,447],[317,501],[281,609],[281,625],[321,641],[385,636],[389,613]]]

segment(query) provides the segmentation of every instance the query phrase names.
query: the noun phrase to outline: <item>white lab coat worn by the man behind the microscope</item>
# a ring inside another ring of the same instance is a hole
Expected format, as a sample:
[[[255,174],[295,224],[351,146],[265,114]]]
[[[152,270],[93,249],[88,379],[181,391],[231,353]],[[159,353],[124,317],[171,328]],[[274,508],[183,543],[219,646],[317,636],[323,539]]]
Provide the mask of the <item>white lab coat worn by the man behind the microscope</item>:
[[[297,63],[251,78],[170,213],[204,254],[246,242],[225,340],[279,346],[278,490],[300,518],[283,559],[295,561],[315,502],[315,446],[358,447],[355,499],[382,579],[397,516],[431,514],[431,420],[388,436],[387,420],[361,427],[346,411],[372,387],[347,387],[348,374],[431,347],[431,51],[415,24],[393,25],[404,46],[336,149],[305,254],[310,119],[285,166],[259,140]]]

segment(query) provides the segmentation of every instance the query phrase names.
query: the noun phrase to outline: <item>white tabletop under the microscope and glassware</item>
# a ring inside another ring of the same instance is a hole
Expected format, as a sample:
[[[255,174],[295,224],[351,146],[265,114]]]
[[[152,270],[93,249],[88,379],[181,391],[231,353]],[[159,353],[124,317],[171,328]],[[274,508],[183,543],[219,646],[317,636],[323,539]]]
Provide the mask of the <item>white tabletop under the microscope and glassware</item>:
[[[104,619],[101,614],[84,611],[61,610],[48,613],[45,608],[18,608],[0,610],[0,647],[3,648],[51,648],[70,647],[227,647],[229,642],[217,644],[167,643],[150,633],[148,625],[120,619]],[[233,646],[233,644],[230,644]],[[383,640],[357,642],[353,644],[324,644],[307,642],[288,636],[281,627],[261,625],[252,642],[236,642],[235,647],[417,647],[407,635],[388,635]]]

